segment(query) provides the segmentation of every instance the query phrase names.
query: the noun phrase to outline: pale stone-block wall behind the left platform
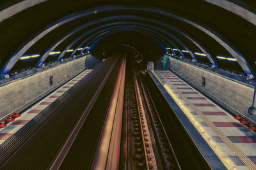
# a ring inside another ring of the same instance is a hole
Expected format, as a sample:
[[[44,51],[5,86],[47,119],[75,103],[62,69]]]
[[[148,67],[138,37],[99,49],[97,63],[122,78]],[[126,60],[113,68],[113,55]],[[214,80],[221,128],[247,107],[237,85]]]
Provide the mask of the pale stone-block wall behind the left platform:
[[[85,69],[86,57],[40,71],[0,87],[0,118],[21,111]],[[50,76],[54,83],[50,84]],[[30,103],[30,104],[29,104]]]

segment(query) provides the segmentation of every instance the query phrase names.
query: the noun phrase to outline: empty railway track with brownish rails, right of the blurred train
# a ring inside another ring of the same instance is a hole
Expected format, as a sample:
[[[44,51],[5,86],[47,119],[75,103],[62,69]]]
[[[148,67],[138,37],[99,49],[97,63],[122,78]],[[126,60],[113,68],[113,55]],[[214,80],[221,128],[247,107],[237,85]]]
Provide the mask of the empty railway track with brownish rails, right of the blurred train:
[[[126,74],[120,169],[180,169],[143,73],[134,69]]]

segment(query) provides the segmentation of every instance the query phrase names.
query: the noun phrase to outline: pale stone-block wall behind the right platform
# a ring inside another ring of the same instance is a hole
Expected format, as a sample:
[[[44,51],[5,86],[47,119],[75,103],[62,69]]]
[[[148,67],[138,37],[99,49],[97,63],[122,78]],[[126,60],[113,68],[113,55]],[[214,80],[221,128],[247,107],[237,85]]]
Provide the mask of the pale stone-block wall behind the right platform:
[[[227,107],[250,117],[248,108],[252,106],[253,87],[243,82],[237,82],[220,74],[202,69],[198,66],[182,62],[170,57],[170,69],[207,91],[213,97],[227,104]],[[205,77],[205,86],[202,85],[202,77]],[[253,117],[250,117],[255,119]]]

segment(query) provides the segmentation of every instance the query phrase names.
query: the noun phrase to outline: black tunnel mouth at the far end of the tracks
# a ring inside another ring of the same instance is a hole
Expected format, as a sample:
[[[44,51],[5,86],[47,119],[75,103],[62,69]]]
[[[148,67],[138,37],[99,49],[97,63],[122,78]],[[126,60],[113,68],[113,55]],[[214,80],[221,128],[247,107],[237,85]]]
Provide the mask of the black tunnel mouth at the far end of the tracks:
[[[106,59],[111,53],[127,51],[128,60],[146,68],[148,62],[157,62],[166,54],[165,47],[155,38],[135,31],[120,31],[107,36],[95,46],[92,55],[98,60]]]

